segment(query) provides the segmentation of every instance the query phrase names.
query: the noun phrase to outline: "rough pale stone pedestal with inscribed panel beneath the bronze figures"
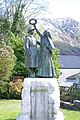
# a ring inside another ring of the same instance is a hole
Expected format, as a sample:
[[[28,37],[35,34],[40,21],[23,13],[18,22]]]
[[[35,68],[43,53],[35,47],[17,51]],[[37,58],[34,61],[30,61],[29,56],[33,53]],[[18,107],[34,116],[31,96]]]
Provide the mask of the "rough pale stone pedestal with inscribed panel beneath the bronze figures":
[[[64,120],[55,78],[25,78],[22,111],[16,120]]]

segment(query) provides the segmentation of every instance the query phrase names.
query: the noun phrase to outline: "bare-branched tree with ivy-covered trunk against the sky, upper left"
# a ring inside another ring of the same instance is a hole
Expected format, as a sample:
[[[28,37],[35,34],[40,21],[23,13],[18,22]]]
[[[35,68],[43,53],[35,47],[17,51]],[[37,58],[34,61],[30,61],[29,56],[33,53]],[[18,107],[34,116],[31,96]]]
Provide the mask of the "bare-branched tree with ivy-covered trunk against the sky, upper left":
[[[18,35],[23,31],[24,23],[36,18],[46,8],[47,0],[1,0],[0,19],[7,18],[11,32]]]

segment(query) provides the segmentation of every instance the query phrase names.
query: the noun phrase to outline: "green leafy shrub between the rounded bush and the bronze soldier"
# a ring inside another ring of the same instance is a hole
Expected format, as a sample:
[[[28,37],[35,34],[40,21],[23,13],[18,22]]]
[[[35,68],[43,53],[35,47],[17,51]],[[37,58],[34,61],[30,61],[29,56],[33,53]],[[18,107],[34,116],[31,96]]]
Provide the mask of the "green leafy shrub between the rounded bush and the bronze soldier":
[[[24,41],[22,38],[15,36],[13,33],[10,34],[9,45],[14,50],[16,56],[16,63],[13,69],[13,75],[27,76],[28,70],[24,68]]]

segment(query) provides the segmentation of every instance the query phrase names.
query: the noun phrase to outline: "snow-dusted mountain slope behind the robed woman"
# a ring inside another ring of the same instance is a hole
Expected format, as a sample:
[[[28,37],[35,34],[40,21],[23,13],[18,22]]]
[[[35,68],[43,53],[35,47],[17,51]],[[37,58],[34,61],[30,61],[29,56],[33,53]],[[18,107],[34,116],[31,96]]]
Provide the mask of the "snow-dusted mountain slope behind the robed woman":
[[[80,55],[80,23],[71,19],[42,19],[45,29],[52,33],[54,45],[60,54]]]

